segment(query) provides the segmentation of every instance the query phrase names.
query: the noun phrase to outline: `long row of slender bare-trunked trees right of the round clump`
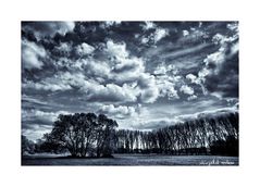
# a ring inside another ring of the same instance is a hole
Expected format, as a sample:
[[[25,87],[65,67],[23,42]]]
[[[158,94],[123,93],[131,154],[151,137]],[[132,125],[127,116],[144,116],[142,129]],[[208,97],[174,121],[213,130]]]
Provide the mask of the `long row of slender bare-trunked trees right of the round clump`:
[[[220,142],[223,150],[226,149],[225,142],[227,142],[230,147],[236,148],[232,154],[238,154],[238,113],[198,119],[152,132],[120,129],[116,132],[115,145],[117,152],[121,153],[188,154],[208,153],[210,148],[213,150]],[[211,151],[211,153],[216,152]],[[230,154],[228,151],[221,153]]]

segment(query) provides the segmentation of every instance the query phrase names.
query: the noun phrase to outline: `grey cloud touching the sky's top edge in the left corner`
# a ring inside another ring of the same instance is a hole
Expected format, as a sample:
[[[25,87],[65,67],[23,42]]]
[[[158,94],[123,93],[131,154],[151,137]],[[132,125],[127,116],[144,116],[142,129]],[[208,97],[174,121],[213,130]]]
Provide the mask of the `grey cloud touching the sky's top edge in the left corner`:
[[[53,37],[57,33],[65,35],[75,27],[74,22],[22,22],[23,29],[33,32],[40,39],[44,37]]]

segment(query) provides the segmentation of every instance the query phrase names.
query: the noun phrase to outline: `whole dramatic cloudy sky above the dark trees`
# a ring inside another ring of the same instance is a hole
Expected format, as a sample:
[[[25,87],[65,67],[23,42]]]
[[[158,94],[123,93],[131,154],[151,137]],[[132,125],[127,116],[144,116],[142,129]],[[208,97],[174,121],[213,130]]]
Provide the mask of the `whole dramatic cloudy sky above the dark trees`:
[[[154,129],[238,110],[237,22],[23,22],[22,133],[59,114]]]

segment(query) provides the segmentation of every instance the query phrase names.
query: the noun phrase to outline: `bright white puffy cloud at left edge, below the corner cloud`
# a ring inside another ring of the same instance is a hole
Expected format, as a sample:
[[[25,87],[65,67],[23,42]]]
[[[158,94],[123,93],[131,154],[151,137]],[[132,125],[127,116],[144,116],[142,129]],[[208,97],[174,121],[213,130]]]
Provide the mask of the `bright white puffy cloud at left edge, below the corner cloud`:
[[[22,40],[22,63],[23,67],[27,70],[41,68],[42,60],[47,57],[47,51],[44,47],[36,45],[26,39]]]

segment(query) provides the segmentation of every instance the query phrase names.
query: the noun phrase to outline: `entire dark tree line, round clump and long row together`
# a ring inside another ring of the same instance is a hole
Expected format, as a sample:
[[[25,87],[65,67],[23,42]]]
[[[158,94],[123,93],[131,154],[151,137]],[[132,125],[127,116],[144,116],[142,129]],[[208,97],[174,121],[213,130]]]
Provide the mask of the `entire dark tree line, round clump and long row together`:
[[[160,124],[159,124],[160,125]],[[151,132],[116,129],[103,114],[59,115],[36,144],[22,136],[22,153],[70,152],[71,157],[115,153],[238,155],[238,113],[200,117]]]

